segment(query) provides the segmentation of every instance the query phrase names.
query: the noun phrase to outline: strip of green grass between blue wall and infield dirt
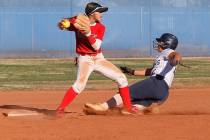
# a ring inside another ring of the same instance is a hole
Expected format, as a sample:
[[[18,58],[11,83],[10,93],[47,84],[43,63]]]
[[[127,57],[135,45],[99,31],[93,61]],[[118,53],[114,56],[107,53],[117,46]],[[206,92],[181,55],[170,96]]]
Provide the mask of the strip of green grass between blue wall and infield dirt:
[[[117,66],[134,69],[151,67],[152,59],[111,59]],[[178,66],[172,88],[210,87],[210,59],[184,59],[190,69]],[[129,83],[143,77],[127,76]],[[1,90],[66,89],[76,79],[74,62],[68,59],[1,59]],[[104,76],[93,73],[87,89],[115,89],[116,84]]]

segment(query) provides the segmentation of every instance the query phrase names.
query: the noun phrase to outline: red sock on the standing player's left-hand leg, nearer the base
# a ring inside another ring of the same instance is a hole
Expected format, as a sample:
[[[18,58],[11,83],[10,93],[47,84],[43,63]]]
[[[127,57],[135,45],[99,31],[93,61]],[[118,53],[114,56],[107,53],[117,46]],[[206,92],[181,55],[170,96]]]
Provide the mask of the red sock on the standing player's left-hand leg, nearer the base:
[[[66,106],[68,106],[74,98],[78,95],[73,88],[71,87],[65,94],[60,106],[58,107],[58,110],[64,110]]]

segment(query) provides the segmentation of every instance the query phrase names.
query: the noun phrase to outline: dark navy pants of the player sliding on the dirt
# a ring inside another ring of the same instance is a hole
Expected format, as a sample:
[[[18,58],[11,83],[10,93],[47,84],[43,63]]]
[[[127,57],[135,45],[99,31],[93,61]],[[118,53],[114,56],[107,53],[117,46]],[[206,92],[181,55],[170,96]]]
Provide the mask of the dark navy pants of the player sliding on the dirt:
[[[150,77],[129,86],[132,104],[150,106],[152,103],[162,104],[169,94],[168,85],[164,80]]]

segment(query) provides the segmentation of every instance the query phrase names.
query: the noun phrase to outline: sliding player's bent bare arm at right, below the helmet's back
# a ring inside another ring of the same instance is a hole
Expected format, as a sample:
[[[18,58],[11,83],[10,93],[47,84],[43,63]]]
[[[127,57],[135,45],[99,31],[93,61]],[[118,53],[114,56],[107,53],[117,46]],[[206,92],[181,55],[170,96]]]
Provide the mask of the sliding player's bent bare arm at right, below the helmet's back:
[[[168,55],[168,61],[172,66],[176,66],[177,64],[179,64],[181,60],[182,56],[178,52],[174,51]]]

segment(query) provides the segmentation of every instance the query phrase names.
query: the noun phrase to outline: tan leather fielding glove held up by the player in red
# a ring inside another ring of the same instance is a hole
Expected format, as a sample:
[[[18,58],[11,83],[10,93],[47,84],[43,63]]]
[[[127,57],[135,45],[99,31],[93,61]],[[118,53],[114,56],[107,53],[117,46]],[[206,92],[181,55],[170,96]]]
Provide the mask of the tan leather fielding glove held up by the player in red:
[[[91,31],[89,18],[84,14],[78,14],[74,23],[74,27],[83,34],[89,34]]]

